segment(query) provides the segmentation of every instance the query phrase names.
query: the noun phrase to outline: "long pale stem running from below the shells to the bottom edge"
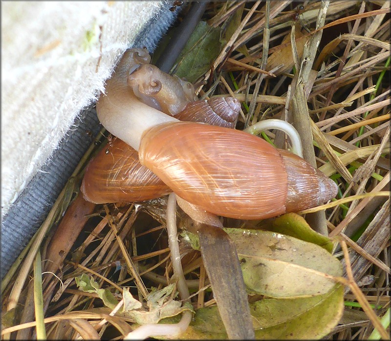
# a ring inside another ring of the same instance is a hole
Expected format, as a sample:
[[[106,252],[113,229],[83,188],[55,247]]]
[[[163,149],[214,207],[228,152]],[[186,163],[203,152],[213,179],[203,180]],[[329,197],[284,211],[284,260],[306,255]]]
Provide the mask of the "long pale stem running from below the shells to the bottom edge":
[[[183,275],[182,263],[180,261],[179,244],[176,237],[176,199],[171,193],[167,203],[167,232],[168,245],[171,250],[171,261],[173,262],[174,276],[177,279],[176,287],[182,301],[190,301],[189,288]],[[192,321],[193,313],[185,311],[182,318],[175,324],[144,324],[130,332],[124,340],[143,340],[152,336],[175,337],[183,333]]]

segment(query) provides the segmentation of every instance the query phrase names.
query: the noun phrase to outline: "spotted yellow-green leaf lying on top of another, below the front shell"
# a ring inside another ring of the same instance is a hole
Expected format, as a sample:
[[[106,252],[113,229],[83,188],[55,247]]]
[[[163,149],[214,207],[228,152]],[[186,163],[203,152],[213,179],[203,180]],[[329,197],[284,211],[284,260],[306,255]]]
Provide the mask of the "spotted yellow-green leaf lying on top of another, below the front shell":
[[[246,287],[269,297],[322,295],[342,265],[322,247],[280,233],[224,229],[234,241]]]

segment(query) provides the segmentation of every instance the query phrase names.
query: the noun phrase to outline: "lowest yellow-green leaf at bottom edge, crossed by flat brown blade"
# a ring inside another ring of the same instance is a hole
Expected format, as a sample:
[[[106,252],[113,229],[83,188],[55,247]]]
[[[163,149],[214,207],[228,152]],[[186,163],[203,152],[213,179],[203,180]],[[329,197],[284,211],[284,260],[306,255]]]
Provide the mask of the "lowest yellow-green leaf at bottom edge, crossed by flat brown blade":
[[[255,335],[261,340],[321,339],[340,320],[343,286],[335,284],[326,294],[296,299],[263,299],[250,303]],[[163,320],[174,323],[174,319]],[[182,340],[227,339],[217,307],[201,308]]]

